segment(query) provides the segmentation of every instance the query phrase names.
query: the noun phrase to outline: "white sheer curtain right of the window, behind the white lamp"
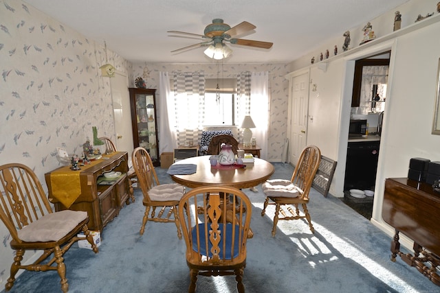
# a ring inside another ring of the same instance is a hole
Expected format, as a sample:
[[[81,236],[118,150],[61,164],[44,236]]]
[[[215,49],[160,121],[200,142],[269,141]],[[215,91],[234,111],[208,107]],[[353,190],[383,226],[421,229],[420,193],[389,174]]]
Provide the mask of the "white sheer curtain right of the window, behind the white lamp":
[[[269,129],[269,73],[252,72],[250,86],[250,116],[256,128],[252,136],[261,147],[261,159],[267,158],[267,130]]]

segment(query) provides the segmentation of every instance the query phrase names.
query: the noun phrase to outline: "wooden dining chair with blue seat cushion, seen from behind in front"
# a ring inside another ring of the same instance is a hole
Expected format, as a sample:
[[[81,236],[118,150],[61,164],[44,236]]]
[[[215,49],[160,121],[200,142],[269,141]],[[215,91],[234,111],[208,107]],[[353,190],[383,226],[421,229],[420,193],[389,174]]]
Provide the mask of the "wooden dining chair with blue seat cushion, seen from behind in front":
[[[234,187],[197,187],[181,198],[179,221],[190,268],[188,292],[195,292],[198,275],[235,275],[237,290],[245,292],[243,272],[251,215],[248,196]]]

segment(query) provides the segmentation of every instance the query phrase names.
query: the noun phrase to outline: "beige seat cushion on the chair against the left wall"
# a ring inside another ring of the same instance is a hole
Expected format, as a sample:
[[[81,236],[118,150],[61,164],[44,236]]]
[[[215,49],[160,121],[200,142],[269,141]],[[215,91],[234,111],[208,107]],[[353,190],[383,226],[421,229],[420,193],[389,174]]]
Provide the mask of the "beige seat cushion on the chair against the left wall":
[[[58,241],[86,218],[87,211],[50,213],[18,231],[19,238],[25,242]]]

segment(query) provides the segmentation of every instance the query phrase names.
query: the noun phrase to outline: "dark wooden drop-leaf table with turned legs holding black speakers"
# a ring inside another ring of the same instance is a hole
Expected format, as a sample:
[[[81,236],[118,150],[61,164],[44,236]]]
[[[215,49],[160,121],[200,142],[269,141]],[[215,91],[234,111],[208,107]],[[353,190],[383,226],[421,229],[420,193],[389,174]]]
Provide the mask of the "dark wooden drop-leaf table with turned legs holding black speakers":
[[[395,228],[391,260],[399,255],[436,285],[440,285],[440,194],[427,183],[408,178],[385,180],[382,217]],[[414,241],[414,254],[400,251],[399,232]]]

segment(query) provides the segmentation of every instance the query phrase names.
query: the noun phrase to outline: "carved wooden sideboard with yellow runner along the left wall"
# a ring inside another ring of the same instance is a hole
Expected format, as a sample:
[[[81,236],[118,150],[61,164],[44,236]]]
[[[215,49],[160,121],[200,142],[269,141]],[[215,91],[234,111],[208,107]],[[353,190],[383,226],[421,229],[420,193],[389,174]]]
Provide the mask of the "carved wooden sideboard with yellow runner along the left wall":
[[[126,172],[129,170],[128,153],[113,152],[109,155],[103,155],[102,159],[82,168],[79,171],[71,171],[67,167],[61,167],[45,174],[49,200],[55,205],[56,211],[65,209],[87,211],[89,213],[89,223],[87,224],[89,229],[102,233],[104,226],[119,214],[124,202],[129,202],[129,181],[126,176]],[[56,197],[53,192],[54,185],[52,185],[54,181],[51,180],[51,176],[63,176],[65,169],[67,169],[65,172],[67,175],[70,175],[68,172],[79,172],[79,187],[73,186],[72,188],[78,190],[79,196],[69,207],[65,207],[58,199],[59,197]],[[98,184],[104,179],[102,174],[111,171],[122,172],[122,175],[111,182],[107,180],[106,185]]]

